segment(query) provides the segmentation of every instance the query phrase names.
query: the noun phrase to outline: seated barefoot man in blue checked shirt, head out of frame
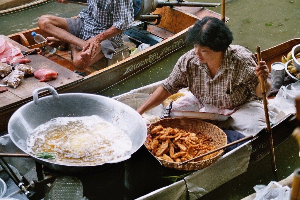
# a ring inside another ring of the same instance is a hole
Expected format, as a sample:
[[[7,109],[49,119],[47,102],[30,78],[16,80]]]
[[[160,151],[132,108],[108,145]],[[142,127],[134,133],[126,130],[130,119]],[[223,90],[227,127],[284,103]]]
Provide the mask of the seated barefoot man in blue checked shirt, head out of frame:
[[[56,2],[68,3],[64,0]],[[51,35],[49,45],[58,47],[69,43],[74,66],[85,69],[103,56],[111,59],[124,42],[124,31],[134,20],[132,0],[88,0],[88,8],[78,18],[43,15],[38,20],[40,29]]]

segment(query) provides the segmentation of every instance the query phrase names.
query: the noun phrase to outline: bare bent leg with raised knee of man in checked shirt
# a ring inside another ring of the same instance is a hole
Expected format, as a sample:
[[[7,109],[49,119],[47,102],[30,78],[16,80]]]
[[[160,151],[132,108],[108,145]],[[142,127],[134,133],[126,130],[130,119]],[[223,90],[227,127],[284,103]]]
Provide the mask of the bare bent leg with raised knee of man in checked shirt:
[[[57,41],[55,41],[53,38],[48,38],[50,42],[53,42],[53,45],[55,45],[55,43],[59,44],[59,42],[74,44],[80,48],[85,45],[84,40],[69,33],[67,20],[63,17],[43,15],[38,20],[38,26],[43,32],[57,39]]]

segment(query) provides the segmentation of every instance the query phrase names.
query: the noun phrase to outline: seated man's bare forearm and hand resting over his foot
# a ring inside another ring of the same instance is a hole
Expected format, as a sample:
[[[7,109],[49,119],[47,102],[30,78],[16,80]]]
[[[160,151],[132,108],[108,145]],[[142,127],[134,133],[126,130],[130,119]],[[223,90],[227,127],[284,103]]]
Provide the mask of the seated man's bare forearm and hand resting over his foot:
[[[98,35],[88,39],[85,43],[85,46],[82,48],[82,52],[88,51],[87,55],[89,55],[90,58],[93,59],[102,41],[113,38],[114,36],[122,32],[123,30],[117,29],[116,27],[112,26],[106,31],[101,32]]]

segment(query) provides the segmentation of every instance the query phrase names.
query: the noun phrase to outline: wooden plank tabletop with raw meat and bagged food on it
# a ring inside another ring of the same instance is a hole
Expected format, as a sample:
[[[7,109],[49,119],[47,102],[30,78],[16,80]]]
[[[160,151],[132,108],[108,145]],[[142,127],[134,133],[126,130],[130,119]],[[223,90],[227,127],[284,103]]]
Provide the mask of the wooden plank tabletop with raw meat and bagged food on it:
[[[14,46],[19,47],[21,50],[29,50],[27,47],[22,46],[21,44],[16,43],[15,41],[11,40],[10,38],[5,37],[4,35],[0,35],[1,38],[4,38],[5,41],[12,43]],[[55,56],[55,55],[51,55]],[[18,97],[27,100],[28,98],[32,98],[32,91],[36,88],[42,86],[53,86],[55,89],[59,89],[61,87],[67,86],[70,83],[75,83],[78,80],[81,80],[83,77],[70,71],[67,68],[64,68],[61,65],[39,55],[29,55],[27,56],[31,60],[28,63],[32,68],[38,70],[39,68],[47,68],[52,69],[54,71],[58,71],[58,76],[55,80],[51,80],[48,82],[40,82],[35,77],[26,77],[24,78],[23,82],[17,86],[16,88],[8,87],[8,90],[13,94],[17,95]],[[15,103],[15,102],[13,102]]]

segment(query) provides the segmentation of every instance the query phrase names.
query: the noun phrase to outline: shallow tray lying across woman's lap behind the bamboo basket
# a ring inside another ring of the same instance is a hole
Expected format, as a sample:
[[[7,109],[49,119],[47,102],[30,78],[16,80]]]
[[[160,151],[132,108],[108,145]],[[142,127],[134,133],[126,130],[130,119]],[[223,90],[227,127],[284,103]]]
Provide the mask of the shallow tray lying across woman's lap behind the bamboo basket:
[[[190,117],[198,118],[203,120],[216,120],[216,121],[225,121],[230,117],[229,115],[214,114],[214,113],[204,113],[204,112],[195,112],[195,111],[171,111],[176,117]]]

